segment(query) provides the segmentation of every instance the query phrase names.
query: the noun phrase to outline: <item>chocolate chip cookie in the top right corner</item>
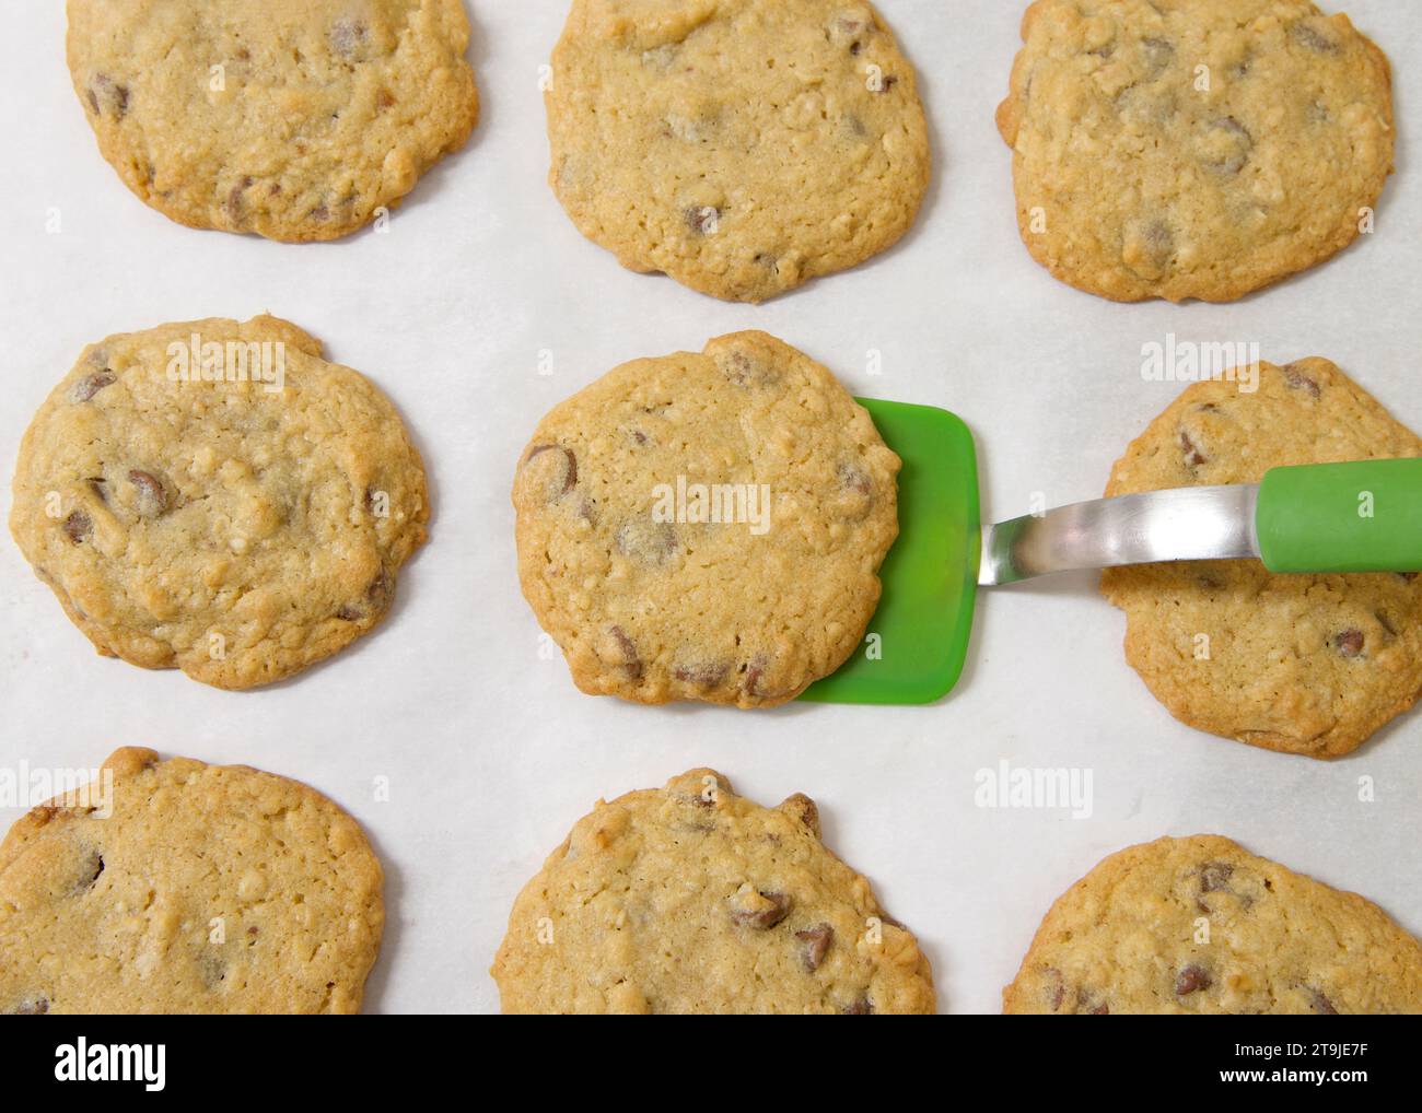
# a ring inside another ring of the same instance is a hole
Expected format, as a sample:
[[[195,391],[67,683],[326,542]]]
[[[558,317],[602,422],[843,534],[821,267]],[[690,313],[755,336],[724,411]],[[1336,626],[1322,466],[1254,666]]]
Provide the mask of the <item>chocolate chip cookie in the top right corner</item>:
[[[1022,239],[1118,301],[1231,301],[1374,226],[1388,61],[1307,0],[1038,0],[998,128]]]

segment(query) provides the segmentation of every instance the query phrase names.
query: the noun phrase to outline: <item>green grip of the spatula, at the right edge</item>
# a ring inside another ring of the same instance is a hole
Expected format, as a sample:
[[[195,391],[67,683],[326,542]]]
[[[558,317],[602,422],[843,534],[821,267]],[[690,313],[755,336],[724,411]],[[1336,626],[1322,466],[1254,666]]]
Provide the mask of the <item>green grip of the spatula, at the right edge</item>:
[[[1270,571],[1422,571],[1422,459],[1276,468],[1254,526]]]

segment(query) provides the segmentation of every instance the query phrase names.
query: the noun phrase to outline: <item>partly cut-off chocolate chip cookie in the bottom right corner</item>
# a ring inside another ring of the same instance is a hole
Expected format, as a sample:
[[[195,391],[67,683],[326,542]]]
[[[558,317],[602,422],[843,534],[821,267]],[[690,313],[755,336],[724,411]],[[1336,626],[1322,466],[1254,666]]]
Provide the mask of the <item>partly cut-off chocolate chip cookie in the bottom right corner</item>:
[[[1003,1012],[1416,1013],[1422,947],[1371,901],[1229,839],[1158,839],[1052,905]]]

